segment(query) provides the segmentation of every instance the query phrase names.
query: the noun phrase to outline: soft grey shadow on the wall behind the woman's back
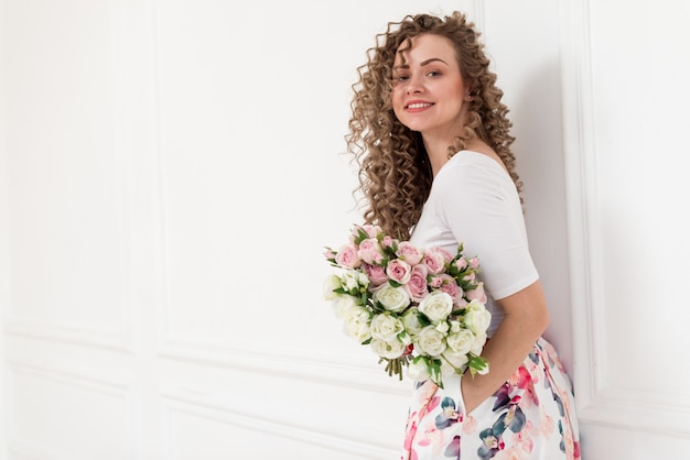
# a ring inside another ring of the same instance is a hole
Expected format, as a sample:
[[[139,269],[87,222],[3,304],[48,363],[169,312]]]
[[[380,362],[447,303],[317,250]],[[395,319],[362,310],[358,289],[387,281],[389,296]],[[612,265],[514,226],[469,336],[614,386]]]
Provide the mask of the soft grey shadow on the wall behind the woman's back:
[[[506,91],[507,92],[507,91]],[[545,333],[572,370],[570,258],[560,64],[545,61],[513,89],[508,107],[517,138],[530,251],[543,284],[551,324]],[[507,96],[509,96],[507,94]]]

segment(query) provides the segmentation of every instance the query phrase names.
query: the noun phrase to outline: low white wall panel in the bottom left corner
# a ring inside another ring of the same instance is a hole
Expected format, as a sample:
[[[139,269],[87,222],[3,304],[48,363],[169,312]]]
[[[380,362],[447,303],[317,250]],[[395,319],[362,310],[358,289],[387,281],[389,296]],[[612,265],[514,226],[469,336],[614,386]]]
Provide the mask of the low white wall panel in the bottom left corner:
[[[132,458],[128,388],[23,364],[11,368],[11,382],[10,449],[55,459]]]

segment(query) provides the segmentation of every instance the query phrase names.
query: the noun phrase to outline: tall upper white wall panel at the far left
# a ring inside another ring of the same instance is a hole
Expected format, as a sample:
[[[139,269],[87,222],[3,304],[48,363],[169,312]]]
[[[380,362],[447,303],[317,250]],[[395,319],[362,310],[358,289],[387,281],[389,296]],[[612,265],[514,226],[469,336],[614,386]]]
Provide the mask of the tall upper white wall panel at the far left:
[[[123,346],[120,18],[110,2],[76,0],[6,2],[3,12],[10,328]]]

